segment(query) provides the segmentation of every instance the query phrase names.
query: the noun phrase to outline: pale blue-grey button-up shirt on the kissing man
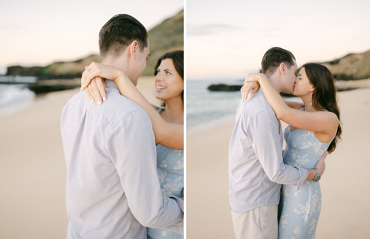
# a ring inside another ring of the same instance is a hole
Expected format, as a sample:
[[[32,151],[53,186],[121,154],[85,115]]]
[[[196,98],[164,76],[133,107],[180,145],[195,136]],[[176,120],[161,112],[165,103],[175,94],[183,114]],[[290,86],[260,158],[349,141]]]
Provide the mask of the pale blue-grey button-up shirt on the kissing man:
[[[229,145],[229,202],[234,212],[278,205],[281,184],[297,190],[308,171],[283,163],[283,131],[261,89],[236,109]]]

